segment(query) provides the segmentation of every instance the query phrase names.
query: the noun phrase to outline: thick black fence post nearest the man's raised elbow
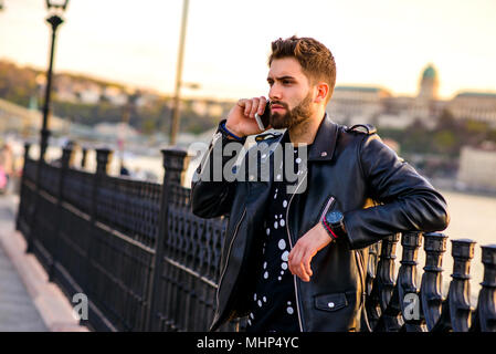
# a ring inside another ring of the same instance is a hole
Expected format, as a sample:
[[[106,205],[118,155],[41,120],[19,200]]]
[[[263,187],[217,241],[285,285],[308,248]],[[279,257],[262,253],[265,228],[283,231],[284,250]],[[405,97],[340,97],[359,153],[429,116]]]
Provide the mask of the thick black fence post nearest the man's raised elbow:
[[[156,316],[158,304],[163,301],[162,299],[159,299],[161,295],[160,277],[163,269],[162,258],[167,240],[169,204],[173,197],[171,189],[173,186],[180,186],[182,184],[186,167],[189,163],[188,153],[183,149],[170,147],[162,149],[161,153],[165,173],[160,196],[160,222],[155,244],[154,266],[150,273],[151,281],[148,291],[148,303],[150,304],[148,313],[148,331],[159,330]]]

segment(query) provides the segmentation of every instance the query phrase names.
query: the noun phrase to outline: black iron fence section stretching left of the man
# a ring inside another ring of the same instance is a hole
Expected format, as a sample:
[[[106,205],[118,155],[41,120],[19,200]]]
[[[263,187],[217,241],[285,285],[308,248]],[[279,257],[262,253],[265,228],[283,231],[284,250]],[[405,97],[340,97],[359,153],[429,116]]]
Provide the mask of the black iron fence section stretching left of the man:
[[[163,184],[39,164],[25,146],[17,229],[68,299],[84,293],[95,331],[205,331],[214,310],[226,220],[190,212],[182,150],[163,150]],[[83,156],[83,164],[86,156]],[[235,331],[238,322],[223,326]]]

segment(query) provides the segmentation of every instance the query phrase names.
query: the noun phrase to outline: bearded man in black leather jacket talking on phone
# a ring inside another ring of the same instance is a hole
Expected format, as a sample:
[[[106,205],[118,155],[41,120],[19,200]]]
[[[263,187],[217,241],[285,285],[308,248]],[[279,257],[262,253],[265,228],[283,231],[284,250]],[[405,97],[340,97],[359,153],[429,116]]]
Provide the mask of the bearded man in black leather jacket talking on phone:
[[[336,64],[325,45],[310,38],[276,40],[268,65],[271,104],[240,100],[219,124],[192,183],[193,214],[230,217],[211,330],[249,316],[247,331],[368,331],[367,247],[395,232],[445,229],[445,200],[373,127],[362,126],[363,133],[330,121],[325,108]],[[271,171],[268,180],[257,180],[250,154],[230,169],[225,150],[236,156],[246,136],[262,133],[255,114],[265,108],[270,127],[286,131],[256,137],[256,166]],[[274,146],[285,143],[295,147],[284,149],[285,157],[295,154],[293,192],[276,171],[283,164]],[[219,166],[224,174],[212,179]]]

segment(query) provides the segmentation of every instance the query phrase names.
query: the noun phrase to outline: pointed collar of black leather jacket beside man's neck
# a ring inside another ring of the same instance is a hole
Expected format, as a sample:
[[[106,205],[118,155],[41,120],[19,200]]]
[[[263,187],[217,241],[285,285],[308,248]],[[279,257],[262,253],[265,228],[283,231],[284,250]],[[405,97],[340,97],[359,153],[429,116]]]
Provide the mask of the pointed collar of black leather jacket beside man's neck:
[[[327,112],[315,135],[314,143],[308,154],[309,162],[328,162],[333,159],[334,150],[338,139],[338,125],[334,123]],[[281,140],[289,140],[289,132],[286,129]]]

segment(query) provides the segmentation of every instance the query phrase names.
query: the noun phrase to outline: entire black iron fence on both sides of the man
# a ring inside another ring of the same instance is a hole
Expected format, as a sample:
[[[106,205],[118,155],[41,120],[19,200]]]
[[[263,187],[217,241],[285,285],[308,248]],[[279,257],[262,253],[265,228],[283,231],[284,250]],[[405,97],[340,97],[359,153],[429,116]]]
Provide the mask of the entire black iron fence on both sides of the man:
[[[96,331],[205,331],[215,306],[224,218],[204,220],[190,208],[181,180],[184,150],[165,149],[163,183],[107,175],[112,152],[98,149],[96,173],[33,160],[25,146],[17,228],[65,294],[84,293]],[[84,166],[86,155],[83,155]],[[395,277],[395,248],[402,258]],[[418,252],[425,267],[418,284]],[[370,247],[366,309],[376,332],[496,332],[496,246],[482,248],[484,281],[469,301],[475,242],[452,240],[453,272],[442,294],[442,233],[392,235]],[[243,329],[233,321],[222,331]]]

